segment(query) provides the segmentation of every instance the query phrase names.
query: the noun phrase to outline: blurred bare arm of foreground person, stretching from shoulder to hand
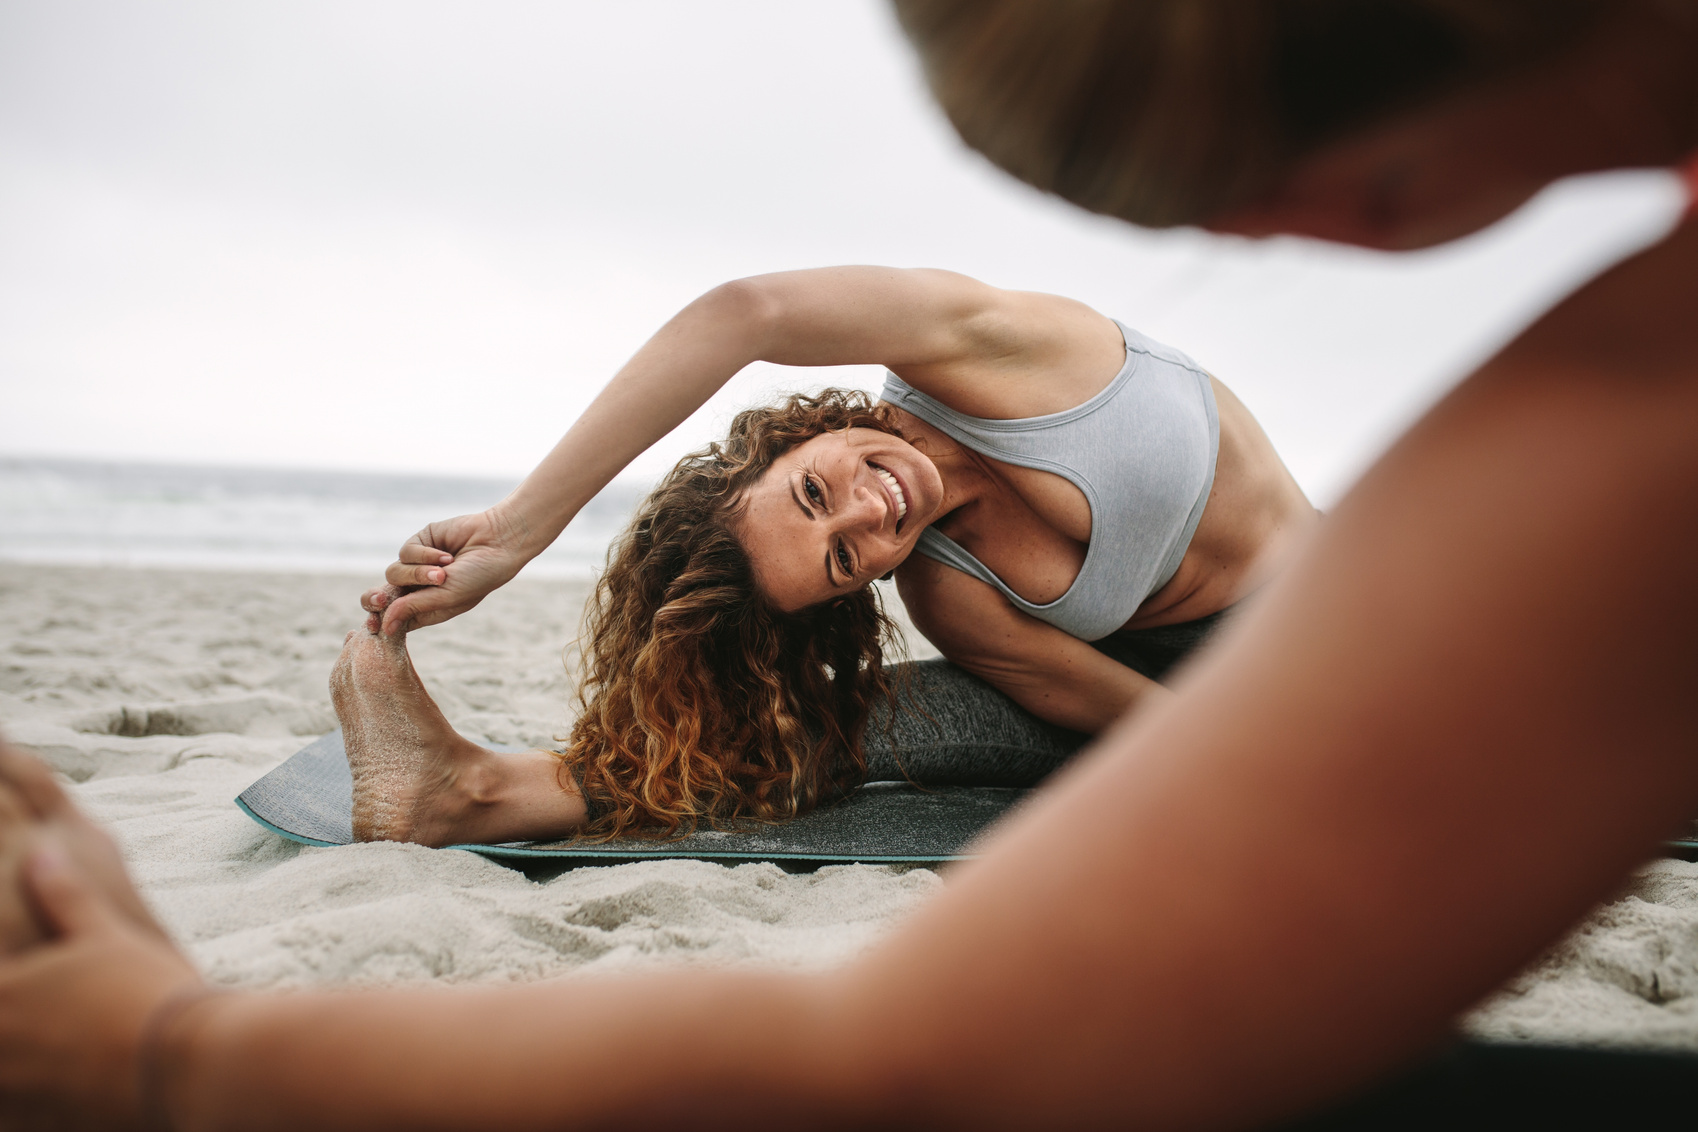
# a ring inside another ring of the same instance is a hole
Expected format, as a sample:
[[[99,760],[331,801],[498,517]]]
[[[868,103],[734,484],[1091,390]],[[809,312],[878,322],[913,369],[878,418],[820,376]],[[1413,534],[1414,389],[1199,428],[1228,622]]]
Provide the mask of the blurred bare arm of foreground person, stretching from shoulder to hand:
[[[1698,806],[1695,263],[1448,397],[851,967],[214,998],[163,1034],[178,1127],[1253,1127],[1413,1056]],[[160,947],[0,964],[7,1096],[129,1088]]]

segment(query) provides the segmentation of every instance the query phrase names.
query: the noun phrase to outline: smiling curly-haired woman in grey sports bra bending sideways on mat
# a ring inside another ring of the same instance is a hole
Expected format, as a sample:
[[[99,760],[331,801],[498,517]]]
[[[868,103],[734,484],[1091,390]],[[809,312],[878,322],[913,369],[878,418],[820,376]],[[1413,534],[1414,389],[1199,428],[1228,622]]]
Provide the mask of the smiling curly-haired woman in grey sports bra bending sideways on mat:
[[[453,735],[404,633],[511,579],[756,360],[890,375],[878,402],[744,411],[661,482],[591,604],[564,754]],[[367,596],[333,681],[355,832],[666,835],[793,818],[868,776],[1029,784],[1163,694],[1313,519],[1224,385],[1083,304],[874,266],[725,283],[518,490],[419,531]],[[886,674],[871,582],[891,574],[946,660]]]

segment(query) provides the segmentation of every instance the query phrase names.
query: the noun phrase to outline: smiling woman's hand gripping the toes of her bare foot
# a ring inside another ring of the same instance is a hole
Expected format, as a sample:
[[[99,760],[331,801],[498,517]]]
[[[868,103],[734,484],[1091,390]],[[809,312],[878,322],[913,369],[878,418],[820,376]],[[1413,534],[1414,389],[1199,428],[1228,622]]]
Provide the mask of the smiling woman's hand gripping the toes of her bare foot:
[[[389,586],[367,591],[367,613],[384,633],[406,633],[457,618],[513,580],[531,560],[525,530],[498,507],[431,523],[384,570]]]

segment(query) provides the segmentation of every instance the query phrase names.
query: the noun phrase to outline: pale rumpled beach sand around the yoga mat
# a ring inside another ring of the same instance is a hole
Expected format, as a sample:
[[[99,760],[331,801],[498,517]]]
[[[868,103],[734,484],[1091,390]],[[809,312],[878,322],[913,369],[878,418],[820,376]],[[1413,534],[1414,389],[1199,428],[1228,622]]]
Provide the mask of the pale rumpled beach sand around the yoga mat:
[[[700,860],[533,881],[460,850],[309,849],[267,833],[231,799],[335,725],[326,679],[365,584],[0,563],[0,728],[73,782],[214,983],[815,967],[852,957],[947,883],[929,869],[790,874]],[[520,579],[413,638],[455,726],[501,743],[564,731],[562,647],[584,594]],[[1494,1039],[1698,1051],[1698,866],[1649,864],[1465,1025]]]

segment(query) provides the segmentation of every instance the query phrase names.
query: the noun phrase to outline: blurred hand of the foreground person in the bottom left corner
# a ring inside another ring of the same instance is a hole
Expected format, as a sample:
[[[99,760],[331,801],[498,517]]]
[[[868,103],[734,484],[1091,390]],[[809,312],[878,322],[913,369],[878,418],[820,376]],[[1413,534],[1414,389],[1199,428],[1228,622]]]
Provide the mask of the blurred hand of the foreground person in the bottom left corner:
[[[200,976],[53,838],[24,883],[51,942],[0,961],[0,1127],[149,1127],[165,1098],[143,1045],[182,1018]]]

